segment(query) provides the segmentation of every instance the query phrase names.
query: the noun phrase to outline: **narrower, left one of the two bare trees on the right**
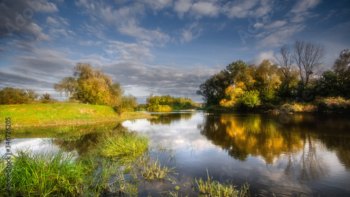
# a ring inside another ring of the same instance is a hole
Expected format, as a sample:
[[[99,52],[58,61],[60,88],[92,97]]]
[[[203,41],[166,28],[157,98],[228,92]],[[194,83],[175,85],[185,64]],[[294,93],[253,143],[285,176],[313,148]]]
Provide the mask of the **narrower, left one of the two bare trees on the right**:
[[[286,86],[287,89],[289,89],[289,83],[290,83],[290,78],[292,76],[292,64],[293,64],[293,56],[292,53],[290,52],[290,49],[288,46],[283,45],[281,47],[281,50],[279,50],[279,56],[274,55],[274,64],[277,66],[281,67],[281,72],[286,79]]]

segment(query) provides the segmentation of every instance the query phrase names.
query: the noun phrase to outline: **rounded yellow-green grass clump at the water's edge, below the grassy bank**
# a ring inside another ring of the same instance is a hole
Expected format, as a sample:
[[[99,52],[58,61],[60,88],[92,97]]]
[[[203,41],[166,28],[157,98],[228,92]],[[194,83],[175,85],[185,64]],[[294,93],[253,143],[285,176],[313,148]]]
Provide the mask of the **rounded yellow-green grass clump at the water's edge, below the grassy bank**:
[[[119,161],[133,161],[148,151],[148,136],[128,131],[106,135],[99,144],[99,154],[117,158]]]

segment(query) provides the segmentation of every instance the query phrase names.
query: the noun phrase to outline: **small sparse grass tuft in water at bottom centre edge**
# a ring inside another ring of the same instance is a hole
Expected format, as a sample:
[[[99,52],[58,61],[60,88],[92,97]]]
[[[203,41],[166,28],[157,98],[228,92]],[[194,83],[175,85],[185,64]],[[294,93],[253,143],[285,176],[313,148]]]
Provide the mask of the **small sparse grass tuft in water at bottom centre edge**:
[[[226,196],[226,197],[246,197],[251,196],[249,193],[249,184],[244,184],[241,189],[236,189],[236,186],[232,184],[221,184],[220,182],[214,181],[212,178],[204,181],[202,177],[195,179],[198,186],[198,190],[204,196]]]

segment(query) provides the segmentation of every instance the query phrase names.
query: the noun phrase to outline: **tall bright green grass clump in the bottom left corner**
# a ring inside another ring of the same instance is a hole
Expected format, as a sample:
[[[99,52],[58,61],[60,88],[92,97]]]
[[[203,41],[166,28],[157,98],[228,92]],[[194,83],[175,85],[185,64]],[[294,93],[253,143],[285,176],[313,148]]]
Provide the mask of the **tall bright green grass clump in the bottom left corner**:
[[[12,192],[3,196],[77,196],[83,188],[84,170],[64,151],[27,149],[13,157],[10,177]]]

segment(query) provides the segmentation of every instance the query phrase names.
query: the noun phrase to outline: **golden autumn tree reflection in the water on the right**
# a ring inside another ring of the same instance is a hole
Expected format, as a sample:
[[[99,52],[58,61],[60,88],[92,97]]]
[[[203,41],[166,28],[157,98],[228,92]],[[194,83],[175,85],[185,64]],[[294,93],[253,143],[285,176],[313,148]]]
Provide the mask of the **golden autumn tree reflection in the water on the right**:
[[[248,156],[261,157],[267,165],[284,168],[289,179],[302,182],[327,177],[330,167],[323,162],[323,153],[329,147],[320,134],[337,135],[336,132],[325,130],[329,125],[323,128],[325,123],[320,124],[309,115],[291,115],[290,122],[284,125],[278,120],[265,114],[216,114],[206,116],[203,125],[197,128],[239,161],[246,161]],[[344,140],[344,136],[335,138]],[[349,139],[349,135],[345,139]],[[344,147],[337,146],[337,156],[349,168],[349,145],[340,144]]]

